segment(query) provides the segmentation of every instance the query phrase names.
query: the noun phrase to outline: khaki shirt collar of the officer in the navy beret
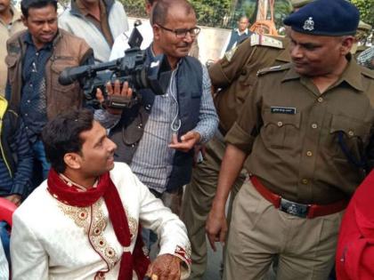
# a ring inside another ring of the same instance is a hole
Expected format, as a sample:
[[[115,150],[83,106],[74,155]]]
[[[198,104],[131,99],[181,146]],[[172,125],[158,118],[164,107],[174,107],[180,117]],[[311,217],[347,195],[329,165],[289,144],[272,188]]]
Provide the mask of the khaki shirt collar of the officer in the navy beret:
[[[362,76],[360,75],[362,73],[362,68],[356,63],[356,61],[352,58],[352,55],[348,53],[346,56],[348,60],[348,64],[346,66],[346,69],[343,71],[340,78],[337,80],[337,83],[335,83],[334,86],[337,86],[337,84],[341,84],[343,82],[346,82],[347,84],[351,85],[354,89],[357,91],[362,92],[363,86],[362,86]],[[291,68],[289,68],[289,71],[287,72],[286,76],[282,78],[282,82],[298,79],[301,76],[296,72],[293,65]]]

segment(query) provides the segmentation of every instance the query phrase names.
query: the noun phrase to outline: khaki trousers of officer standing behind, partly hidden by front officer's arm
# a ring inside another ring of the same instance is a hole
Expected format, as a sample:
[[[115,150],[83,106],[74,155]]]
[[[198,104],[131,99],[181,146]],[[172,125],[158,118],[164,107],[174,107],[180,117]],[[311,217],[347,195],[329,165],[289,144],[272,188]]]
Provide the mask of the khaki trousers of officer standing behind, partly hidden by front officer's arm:
[[[181,218],[191,241],[191,276],[200,279],[207,269],[207,242],[205,223],[215,197],[218,173],[224,157],[225,144],[222,135],[215,135],[206,145],[204,161],[192,170],[191,183],[184,189]],[[240,189],[245,175],[236,180],[232,197]],[[231,210],[229,207],[229,215]]]

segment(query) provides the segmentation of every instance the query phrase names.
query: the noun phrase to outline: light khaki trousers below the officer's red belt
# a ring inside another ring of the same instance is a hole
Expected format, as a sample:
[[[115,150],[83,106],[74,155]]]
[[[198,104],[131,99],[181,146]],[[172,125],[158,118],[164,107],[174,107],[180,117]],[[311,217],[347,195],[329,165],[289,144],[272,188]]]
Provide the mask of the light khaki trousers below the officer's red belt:
[[[280,212],[246,181],[232,209],[224,280],[261,280],[278,255],[278,280],[324,280],[334,264],[343,212],[298,218]]]

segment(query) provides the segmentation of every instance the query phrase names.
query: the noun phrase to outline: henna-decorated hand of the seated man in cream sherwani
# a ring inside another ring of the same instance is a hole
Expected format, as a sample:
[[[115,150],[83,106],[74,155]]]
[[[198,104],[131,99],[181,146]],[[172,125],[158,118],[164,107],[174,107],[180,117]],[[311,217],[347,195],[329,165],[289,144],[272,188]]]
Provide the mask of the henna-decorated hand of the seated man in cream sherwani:
[[[181,259],[168,253],[159,255],[148,267],[146,276],[152,280],[179,280]]]

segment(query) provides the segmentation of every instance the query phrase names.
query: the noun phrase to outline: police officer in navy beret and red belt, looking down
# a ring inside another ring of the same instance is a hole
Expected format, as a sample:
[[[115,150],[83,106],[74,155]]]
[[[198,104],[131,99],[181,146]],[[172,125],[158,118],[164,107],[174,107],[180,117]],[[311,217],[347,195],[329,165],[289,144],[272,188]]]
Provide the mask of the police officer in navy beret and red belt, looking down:
[[[330,19],[334,18],[333,21]],[[224,241],[224,204],[235,198],[224,279],[327,279],[349,197],[373,156],[374,75],[350,54],[359,12],[317,0],[291,14],[292,63],[259,73],[225,140],[209,239]]]

